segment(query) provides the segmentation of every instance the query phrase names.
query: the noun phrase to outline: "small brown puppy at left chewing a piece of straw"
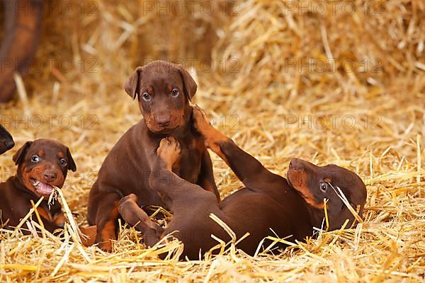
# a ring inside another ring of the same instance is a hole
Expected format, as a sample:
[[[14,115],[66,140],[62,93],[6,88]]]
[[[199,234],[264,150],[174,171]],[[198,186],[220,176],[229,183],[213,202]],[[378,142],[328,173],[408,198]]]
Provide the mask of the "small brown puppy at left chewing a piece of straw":
[[[30,200],[44,200],[37,210],[47,231],[53,232],[64,226],[64,214],[59,202],[49,208],[47,200],[53,186],[62,187],[67,171],[76,171],[74,159],[67,146],[52,139],[27,141],[13,156],[18,165],[15,176],[0,184],[1,226],[13,229],[28,214]]]

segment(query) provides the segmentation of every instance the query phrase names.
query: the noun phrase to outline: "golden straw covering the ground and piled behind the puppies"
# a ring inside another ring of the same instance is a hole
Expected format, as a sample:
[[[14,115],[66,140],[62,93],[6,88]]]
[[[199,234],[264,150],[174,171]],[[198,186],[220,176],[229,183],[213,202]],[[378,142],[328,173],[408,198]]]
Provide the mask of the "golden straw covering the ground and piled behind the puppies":
[[[356,171],[368,187],[365,223],[276,255],[250,258],[229,247],[198,262],[158,260],[128,229],[112,254],[48,234],[2,232],[0,281],[423,282],[425,4],[341,1],[324,13],[322,1],[248,0],[201,13],[196,2],[193,13],[158,16],[147,2],[72,0],[67,14],[51,4],[37,57],[55,64],[26,78],[28,103],[0,105],[17,144],[0,157],[2,180],[16,171],[11,156],[24,141],[62,141],[78,167],[64,197],[85,224],[103,158],[141,117],[123,91],[126,76],[145,59],[189,67],[198,58],[195,102],[217,127],[282,175],[295,156]],[[241,184],[212,157],[228,195]]]

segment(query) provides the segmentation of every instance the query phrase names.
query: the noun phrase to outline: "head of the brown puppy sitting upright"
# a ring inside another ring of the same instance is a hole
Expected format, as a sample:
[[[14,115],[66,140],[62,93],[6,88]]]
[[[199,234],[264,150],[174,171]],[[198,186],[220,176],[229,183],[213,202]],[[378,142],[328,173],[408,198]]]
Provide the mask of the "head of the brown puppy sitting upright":
[[[169,134],[190,120],[189,101],[197,85],[180,65],[154,61],[137,67],[124,88],[133,99],[137,97],[151,132]]]

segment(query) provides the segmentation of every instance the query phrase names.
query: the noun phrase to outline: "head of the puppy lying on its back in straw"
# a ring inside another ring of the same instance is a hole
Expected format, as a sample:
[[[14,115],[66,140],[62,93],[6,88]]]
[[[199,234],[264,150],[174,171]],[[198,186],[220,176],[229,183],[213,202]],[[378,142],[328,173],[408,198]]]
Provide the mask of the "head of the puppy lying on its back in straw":
[[[312,207],[314,226],[322,225],[324,199],[327,199],[329,229],[341,228],[346,219],[349,220],[348,225],[353,224],[355,218],[339,197],[336,187],[341,189],[353,209],[360,206],[359,216],[363,214],[366,187],[361,178],[348,169],[334,164],[315,166],[308,161],[293,158],[289,165],[288,181]]]

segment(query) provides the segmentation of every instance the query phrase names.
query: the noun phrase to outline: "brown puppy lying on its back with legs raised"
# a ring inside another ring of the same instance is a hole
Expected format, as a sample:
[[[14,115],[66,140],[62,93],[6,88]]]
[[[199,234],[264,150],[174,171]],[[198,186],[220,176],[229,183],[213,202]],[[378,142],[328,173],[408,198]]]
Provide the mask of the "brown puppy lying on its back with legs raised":
[[[331,187],[339,187],[359,214],[365,204],[366,189],[361,178],[347,169],[335,166],[314,166],[312,163],[293,159],[290,162],[288,180],[264,168],[259,161],[234,144],[232,139],[213,128],[200,109],[194,110],[196,128],[205,138],[205,143],[215,151],[236,173],[245,188],[226,197],[220,204],[214,195],[201,190],[198,185],[182,180],[171,172],[179,158],[180,146],[176,139],[162,139],[157,154],[159,158],[149,182],[174,213],[165,231],[157,236],[154,227],[143,224],[147,221],[140,214],[137,196],[129,195],[120,201],[120,214],[125,221],[145,232],[145,243],[153,246],[167,233],[184,244],[183,257],[197,259],[217,245],[211,238],[214,234],[223,241],[230,237],[210,218],[215,214],[227,224],[237,238],[249,232],[249,236],[237,244],[246,253],[253,255],[260,241],[266,236],[290,236],[288,241],[304,240],[312,236],[313,227],[322,227],[324,199],[330,229],[338,229],[348,219],[355,221],[348,208]],[[141,225],[142,224],[142,225]]]

